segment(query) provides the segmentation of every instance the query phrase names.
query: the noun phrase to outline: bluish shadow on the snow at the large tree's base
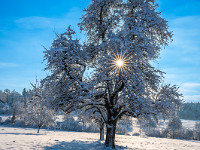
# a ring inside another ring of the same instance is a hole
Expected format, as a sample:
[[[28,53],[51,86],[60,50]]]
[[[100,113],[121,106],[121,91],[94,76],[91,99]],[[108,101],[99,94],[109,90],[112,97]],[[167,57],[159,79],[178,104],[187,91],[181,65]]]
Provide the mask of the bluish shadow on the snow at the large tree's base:
[[[127,149],[127,147],[117,146],[116,150],[123,150]],[[44,150],[112,150],[111,148],[106,148],[104,143],[100,141],[97,142],[83,142],[83,141],[76,141],[73,140],[72,142],[58,142],[56,145],[53,146],[46,146]]]

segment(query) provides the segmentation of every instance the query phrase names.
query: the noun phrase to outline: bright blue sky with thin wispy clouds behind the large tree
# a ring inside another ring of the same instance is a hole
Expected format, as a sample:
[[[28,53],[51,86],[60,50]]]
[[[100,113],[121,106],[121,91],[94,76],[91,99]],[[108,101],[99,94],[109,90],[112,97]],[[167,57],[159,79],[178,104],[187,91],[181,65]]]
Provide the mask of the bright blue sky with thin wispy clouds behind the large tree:
[[[89,0],[0,0],[0,89],[21,92],[45,77],[43,47],[77,23]],[[165,83],[177,84],[186,101],[200,101],[200,0],[158,0],[174,41],[156,63]],[[81,35],[78,35],[81,38]]]

